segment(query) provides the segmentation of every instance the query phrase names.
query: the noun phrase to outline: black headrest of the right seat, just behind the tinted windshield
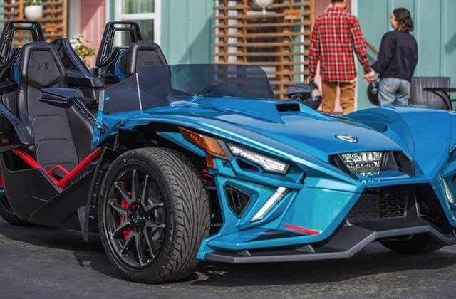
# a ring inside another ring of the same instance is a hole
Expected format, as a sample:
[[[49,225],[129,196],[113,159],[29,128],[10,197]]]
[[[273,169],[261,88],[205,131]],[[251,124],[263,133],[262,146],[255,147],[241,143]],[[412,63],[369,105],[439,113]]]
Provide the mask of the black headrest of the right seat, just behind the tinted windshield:
[[[130,46],[125,76],[129,77],[146,66],[167,64],[160,46],[156,43],[139,41]]]

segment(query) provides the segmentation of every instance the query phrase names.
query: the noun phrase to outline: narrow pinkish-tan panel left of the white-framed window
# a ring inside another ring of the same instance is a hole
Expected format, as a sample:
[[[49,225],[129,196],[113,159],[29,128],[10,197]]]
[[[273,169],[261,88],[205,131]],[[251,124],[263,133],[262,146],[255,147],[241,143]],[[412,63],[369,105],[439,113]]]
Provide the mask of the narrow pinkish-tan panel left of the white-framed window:
[[[106,0],[81,0],[81,35],[87,46],[98,52],[106,23]],[[88,59],[95,66],[95,57]]]

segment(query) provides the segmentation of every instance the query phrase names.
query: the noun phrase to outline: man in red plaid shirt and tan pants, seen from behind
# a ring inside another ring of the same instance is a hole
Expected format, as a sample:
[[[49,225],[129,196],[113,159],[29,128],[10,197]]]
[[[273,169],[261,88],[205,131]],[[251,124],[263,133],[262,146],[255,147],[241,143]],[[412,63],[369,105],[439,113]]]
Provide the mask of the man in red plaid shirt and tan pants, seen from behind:
[[[354,110],[357,76],[353,53],[363,65],[366,80],[372,76],[372,70],[358,19],[346,11],[346,0],[331,2],[332,7],[318,16],[314,24],[309,48],[309,80],[315,79],[319,61],[323,112],[333,112],[339,87],[343,112],[350,113]]]

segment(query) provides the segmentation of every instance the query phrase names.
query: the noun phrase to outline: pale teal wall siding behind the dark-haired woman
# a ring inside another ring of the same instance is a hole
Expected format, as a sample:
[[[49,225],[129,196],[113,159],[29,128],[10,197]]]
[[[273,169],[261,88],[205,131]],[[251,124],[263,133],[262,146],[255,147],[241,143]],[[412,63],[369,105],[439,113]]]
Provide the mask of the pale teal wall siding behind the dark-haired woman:
[[[358,18],[368,41],[380,47],[390,28],[390,14],[406,7],[415,21],[419,61],[415,75],[450,76],[456,85],[456,1],[455,0],[358,0]],[[361,76],[360,76],[361,77]],[[366,83],[358,80],[358,109],[371,107]]]

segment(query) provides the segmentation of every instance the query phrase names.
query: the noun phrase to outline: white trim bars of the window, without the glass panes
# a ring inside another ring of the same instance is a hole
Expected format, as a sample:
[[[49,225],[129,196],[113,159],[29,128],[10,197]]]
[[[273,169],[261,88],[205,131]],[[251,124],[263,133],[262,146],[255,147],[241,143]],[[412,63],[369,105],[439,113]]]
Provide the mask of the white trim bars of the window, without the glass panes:
[[[141,20],[154,20],[154,38],[155,43],[160,44],[162,36],[162,0],[155,0],[154,13],[145,14],[122,14],[122,0],[115,0],[115,21],[141,21]]]

